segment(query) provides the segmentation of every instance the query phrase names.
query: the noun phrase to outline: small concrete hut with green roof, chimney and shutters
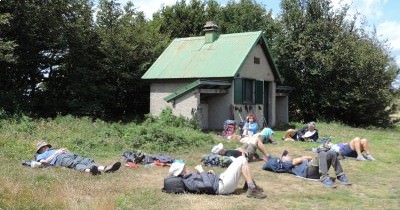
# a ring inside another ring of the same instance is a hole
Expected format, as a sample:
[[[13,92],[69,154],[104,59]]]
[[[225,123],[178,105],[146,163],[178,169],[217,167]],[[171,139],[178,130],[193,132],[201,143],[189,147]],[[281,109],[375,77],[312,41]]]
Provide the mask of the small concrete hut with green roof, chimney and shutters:
[[[286,124],[288,88],[263,32],[219,34],[207,22],[204,36],[177,38],[143,75],[150,81],[150,113],[170,107],[196,117],[203,129],[253,113],[260,126]]]

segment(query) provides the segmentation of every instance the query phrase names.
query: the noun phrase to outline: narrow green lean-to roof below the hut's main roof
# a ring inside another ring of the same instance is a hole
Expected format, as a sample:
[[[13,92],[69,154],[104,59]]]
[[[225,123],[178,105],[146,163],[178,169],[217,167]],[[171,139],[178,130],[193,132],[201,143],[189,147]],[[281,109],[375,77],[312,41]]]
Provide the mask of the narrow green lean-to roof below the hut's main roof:
[[[210,81],[210,80],[198,79],[192,83],[189,83],[188,85],[185,85],[182,88],[179,88],[172,94],[165,97],[164,100],[167,102],[170,102],[170,101],[174,100],[175,98],[178,98],[179,96],[193,90],[194,88],[201,87],[201,86],[207,86],[207,85],[208,86],[229,87],[231,85],[231,83],[226,82],[226,81]]]

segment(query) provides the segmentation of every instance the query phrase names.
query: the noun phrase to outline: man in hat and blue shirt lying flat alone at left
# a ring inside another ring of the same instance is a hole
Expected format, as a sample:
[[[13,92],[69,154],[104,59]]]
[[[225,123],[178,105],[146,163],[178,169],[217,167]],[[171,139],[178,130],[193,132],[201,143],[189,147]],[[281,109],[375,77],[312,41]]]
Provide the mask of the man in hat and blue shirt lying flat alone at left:
[[[115,172],[121,166],[121,162],[114,162],[109,166],[96,165],[94,160],[76,155],[67,149],[53,149],[45,141],[37,144],[35,159],[42,166],[62,166],[77,171],[90,172],[92,175],[99,175],[101,171],[105,173]]]

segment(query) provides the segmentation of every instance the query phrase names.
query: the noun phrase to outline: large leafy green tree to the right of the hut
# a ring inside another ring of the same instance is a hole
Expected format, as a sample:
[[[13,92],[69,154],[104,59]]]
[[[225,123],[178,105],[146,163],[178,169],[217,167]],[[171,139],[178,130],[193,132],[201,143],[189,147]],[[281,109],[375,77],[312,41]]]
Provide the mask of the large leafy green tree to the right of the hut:
[[[387,46],[347,21],[347,7],[333,10],[327,0],[284,0],[281,7],[273,51],[295,88],[292,119],[390,125],[390,85],[399,68]]]

